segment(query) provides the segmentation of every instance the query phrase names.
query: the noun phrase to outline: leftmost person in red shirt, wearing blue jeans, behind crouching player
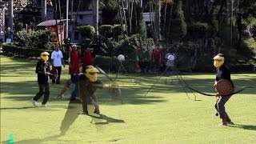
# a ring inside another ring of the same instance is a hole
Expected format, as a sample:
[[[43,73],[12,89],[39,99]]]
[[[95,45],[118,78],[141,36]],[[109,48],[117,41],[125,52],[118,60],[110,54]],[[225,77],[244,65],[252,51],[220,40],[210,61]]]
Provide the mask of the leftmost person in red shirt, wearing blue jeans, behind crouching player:
[[[64,96],[64,93],[69,89],[72,83],[75,84],[75,88],[71,94],[70,101],[74,101],[78,94],[78,79],[79,79],[79,52],[78,46],[70,46],[70,79],[66,82],[66,85],[63,87],[62,91],[58,96]]]

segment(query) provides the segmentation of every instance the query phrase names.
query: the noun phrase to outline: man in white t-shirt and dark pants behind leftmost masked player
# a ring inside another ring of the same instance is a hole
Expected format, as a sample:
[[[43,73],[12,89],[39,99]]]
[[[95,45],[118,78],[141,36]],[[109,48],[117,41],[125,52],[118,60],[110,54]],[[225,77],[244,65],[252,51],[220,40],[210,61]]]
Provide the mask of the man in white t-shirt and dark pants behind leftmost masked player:
[[[60,77],[62,74],[62,66],[65,67],[65,62],[63,59],[63,54],[62,51],[59,50],[59,46],[56,45],[55,46],[55,50],[51,53],[51,63],[53,68],[52,69],[56,69],[58,71],[58,78],[56,81],[56,84],[60,84]],[[52,80],[52,83],[55,83],[55,79]]]

